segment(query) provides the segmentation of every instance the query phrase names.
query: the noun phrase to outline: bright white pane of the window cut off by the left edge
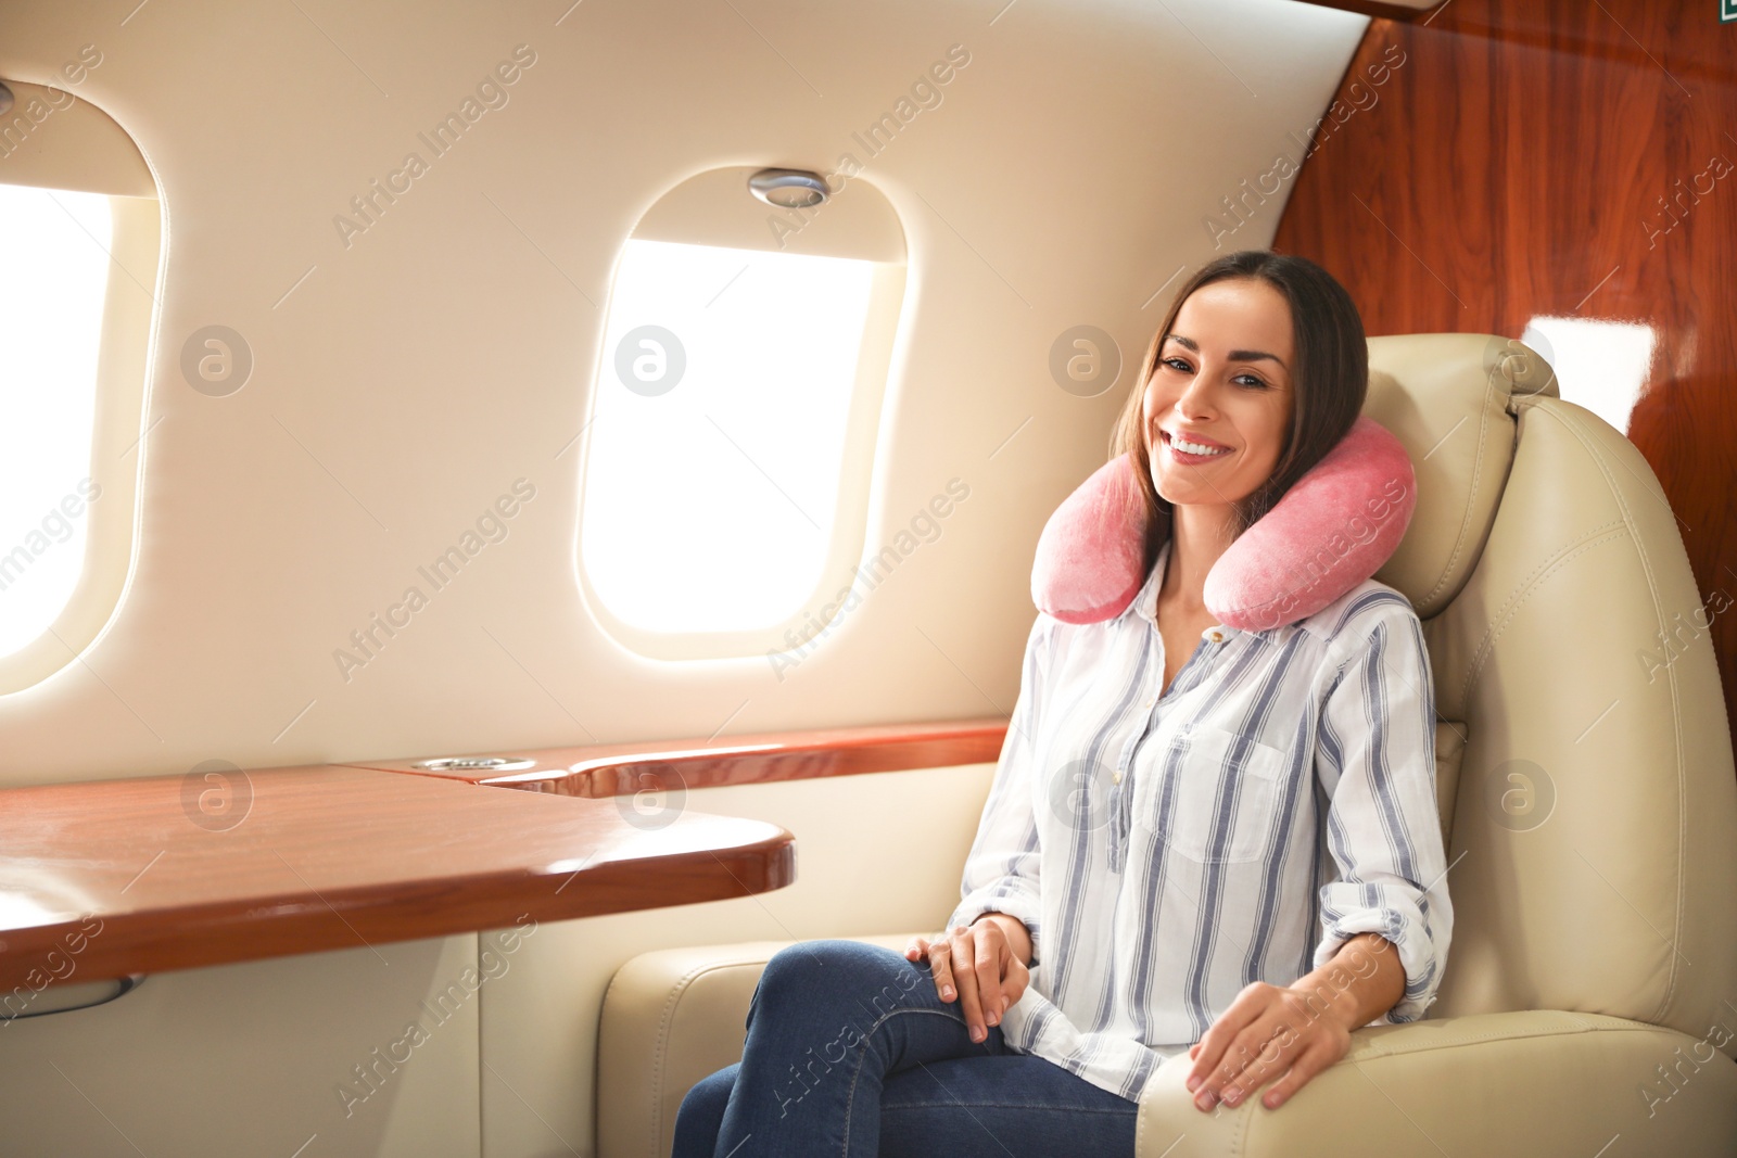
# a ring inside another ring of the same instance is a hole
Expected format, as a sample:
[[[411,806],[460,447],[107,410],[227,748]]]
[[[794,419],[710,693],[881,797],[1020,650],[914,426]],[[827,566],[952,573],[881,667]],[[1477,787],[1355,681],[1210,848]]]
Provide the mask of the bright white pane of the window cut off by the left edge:
[[[0,656],[83,564],[109,245],[108,196],[0,184]]]

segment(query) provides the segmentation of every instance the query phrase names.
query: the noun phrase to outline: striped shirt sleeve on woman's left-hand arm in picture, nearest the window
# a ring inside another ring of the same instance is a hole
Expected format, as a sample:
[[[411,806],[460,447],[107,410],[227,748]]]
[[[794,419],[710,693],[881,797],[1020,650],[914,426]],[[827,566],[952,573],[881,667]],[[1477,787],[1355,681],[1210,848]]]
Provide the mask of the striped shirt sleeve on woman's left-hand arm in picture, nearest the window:
[[[969,925],[983,913],[1007,913],[1032,934],[1032,964],[1042,957],[1042,845],[1034,807],[1037,720],[1044,700],[1044,672],[1053,620],[1039,615],[1025,641],[1020,698],[1007,722],[1007,740],[990,781],[976,839],[966,856],[959,906],[947,927]]]

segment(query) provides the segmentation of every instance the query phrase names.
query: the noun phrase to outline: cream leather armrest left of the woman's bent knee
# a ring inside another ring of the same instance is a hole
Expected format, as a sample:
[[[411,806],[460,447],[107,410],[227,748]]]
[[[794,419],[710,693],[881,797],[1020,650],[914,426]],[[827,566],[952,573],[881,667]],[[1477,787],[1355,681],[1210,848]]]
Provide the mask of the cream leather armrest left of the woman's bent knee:
[[[848,939],[903,951],[933,932]],[[598,1026],[598,1158],[667,1158],[681,1099],[742,1061],[754,986],[787,944],[655,950],[617,970]]]

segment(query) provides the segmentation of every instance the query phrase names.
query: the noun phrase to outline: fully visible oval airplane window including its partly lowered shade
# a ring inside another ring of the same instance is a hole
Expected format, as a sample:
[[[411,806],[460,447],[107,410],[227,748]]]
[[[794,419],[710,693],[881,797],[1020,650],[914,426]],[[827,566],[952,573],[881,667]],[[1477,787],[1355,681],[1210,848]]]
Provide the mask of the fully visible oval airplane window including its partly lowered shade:
[[[653,658],[771,655],[837,620],[905,286],[903,231],[849,181],[813,208],[698,174],[625,240],[585,420],[578,563]]]

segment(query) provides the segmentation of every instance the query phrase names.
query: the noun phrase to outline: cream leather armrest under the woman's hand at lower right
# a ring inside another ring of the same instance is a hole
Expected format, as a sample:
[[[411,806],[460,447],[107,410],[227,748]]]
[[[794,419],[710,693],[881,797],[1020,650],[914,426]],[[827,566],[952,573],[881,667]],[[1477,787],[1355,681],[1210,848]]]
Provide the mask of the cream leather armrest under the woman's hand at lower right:
[[[1600,1014],[1527,1010],[1367,1026],[1278,1109],[1202,1113],[1167,1059],[1139,1102],[1139,1158],[1391,1158],[1737,1153],[1737,1063],[1723,1028],[1697,1042]],[[1662,1068],[1662,1069],[1661,1069]],[[1263,1089],[1265,1092],[1265,1089]]]

